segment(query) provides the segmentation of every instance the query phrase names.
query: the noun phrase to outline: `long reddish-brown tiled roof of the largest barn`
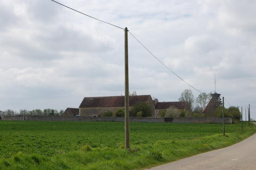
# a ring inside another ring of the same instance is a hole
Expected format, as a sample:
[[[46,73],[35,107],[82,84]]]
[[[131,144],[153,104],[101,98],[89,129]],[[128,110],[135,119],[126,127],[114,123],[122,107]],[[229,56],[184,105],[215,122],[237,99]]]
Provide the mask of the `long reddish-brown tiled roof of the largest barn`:
[[[129,106],[149,99],[152,100],[150,95],[129,96]],[[124,96],[85,97],[79,108],[83,107],[124,107]]]

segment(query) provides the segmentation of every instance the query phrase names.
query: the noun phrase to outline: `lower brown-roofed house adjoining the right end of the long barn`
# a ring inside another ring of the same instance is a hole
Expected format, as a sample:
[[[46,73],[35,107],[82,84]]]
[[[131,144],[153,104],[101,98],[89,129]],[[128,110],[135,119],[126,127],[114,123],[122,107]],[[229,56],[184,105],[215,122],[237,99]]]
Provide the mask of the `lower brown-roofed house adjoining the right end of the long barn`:
[[[165,111],[169,107],[176,107],[179,110],[185,110],[190,111],[190,106],[188,102],[158,102],[157,99],[155,99],[155,117],[158,117],[159,113],[161,111]]]

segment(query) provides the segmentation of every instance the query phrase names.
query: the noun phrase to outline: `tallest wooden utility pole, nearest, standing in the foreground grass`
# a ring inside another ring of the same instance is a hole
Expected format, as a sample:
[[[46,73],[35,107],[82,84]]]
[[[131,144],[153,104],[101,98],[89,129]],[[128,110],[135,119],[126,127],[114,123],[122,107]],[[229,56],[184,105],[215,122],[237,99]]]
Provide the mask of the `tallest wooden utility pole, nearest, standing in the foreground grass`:
[[[129,120],[129,76],[128,76],[128,30],[124,29],[124,72],[125,72],[125,149],[130,148],[130,120]]]

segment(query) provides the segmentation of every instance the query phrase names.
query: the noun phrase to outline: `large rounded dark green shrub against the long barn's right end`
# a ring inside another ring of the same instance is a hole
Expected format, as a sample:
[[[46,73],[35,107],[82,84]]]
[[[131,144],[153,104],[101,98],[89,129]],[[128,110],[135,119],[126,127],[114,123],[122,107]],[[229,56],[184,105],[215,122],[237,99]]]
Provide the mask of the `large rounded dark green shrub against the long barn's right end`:
[[[142,117],[150,117],[153,114],[153,108],[149,104],[139,102],[131,109],[131,116],[136,117],[137,113],[140,111],[142,112]]]

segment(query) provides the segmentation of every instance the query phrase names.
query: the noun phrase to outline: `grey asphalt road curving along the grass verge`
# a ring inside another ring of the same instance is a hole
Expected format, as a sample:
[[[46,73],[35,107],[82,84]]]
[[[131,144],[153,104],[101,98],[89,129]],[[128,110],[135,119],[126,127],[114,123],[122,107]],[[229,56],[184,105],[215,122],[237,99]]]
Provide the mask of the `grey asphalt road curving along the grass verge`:
[[[256,170],[256,133],[232,146],[191,156],[150,170]]]

